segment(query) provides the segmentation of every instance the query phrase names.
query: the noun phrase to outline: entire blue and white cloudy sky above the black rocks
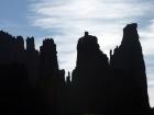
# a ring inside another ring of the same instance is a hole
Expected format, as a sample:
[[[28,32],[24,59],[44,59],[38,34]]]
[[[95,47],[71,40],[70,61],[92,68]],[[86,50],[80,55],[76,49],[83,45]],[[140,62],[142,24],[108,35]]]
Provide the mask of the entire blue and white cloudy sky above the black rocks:
[[[154,0],[0,0],[0,30],[13,35],[54,38],[61,69],[73,70],[76,45],[88,31],[98,37],[100,48],[120,45],[128,23],[139,24],[139,35],[146,65],[148,95],[154,106]]]

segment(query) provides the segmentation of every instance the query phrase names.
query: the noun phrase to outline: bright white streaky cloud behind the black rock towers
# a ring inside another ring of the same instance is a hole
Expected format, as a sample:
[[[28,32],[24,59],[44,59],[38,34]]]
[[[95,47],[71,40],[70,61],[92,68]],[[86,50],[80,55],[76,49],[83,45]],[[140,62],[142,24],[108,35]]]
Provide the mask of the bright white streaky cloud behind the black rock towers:
[[[67,71],[75,68],[76,44],[84,31],[96,35],[102,51],[109,54],[109,49],[120,45],[122,28],[125,24],[138,22],[147,67],[148,85],[154,84],[152,80],[154,78],[152,58],[154,54],[154,14],[151,13],[154,11],[153,0],[30,1],[28,15],[30,24],[54,35],[59,67]]]

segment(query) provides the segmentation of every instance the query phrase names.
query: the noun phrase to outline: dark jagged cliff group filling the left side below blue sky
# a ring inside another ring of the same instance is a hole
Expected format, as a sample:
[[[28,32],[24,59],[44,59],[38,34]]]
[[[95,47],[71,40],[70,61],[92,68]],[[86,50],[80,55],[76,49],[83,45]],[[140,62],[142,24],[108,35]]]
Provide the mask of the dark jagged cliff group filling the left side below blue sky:
[[[58,114],[64,77],[52,38],[44,39],[37,51],[34,37],[26,38],[24,48],[22,36],[0,31],[0,114]]]

